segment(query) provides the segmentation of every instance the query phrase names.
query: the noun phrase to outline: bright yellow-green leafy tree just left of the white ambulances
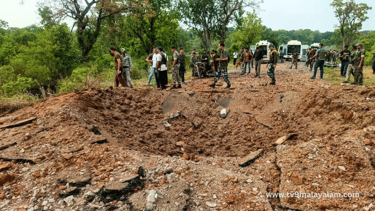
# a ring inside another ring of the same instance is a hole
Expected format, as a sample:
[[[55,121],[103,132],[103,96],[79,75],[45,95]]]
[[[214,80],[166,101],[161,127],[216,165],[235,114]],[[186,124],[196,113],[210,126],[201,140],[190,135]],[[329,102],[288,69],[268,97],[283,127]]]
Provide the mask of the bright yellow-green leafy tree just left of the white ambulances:
[[[230,40],[237,46],[249,47],[261,39],[262,20],[259,18],[255,10],[243,18],[243,24],[234,33],[230,35]]]

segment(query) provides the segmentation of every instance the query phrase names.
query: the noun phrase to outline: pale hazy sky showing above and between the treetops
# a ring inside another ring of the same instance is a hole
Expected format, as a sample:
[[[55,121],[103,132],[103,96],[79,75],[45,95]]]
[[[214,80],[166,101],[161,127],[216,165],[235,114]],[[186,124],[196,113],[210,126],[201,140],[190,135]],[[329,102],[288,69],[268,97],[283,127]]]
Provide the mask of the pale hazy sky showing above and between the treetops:
[[[10,27],[26,27],[39,24],[35,0],[0,0],[0,19],[9,23]],[[363,23],[362,30],[375,30],[375,1],[355,0],[357,3],[366,3],[373,9],[368,12],[369,20]],[[338,20],[329,6],[332,1],[300,1],[300,0],[264,0],[258,16],[262,18],[263,25],[273,29],[298,30],[311,29],[320,32],[332,32]],[[252,12],[251,8],[246,8]],[[69,26],[73,21],[66,20]]]

